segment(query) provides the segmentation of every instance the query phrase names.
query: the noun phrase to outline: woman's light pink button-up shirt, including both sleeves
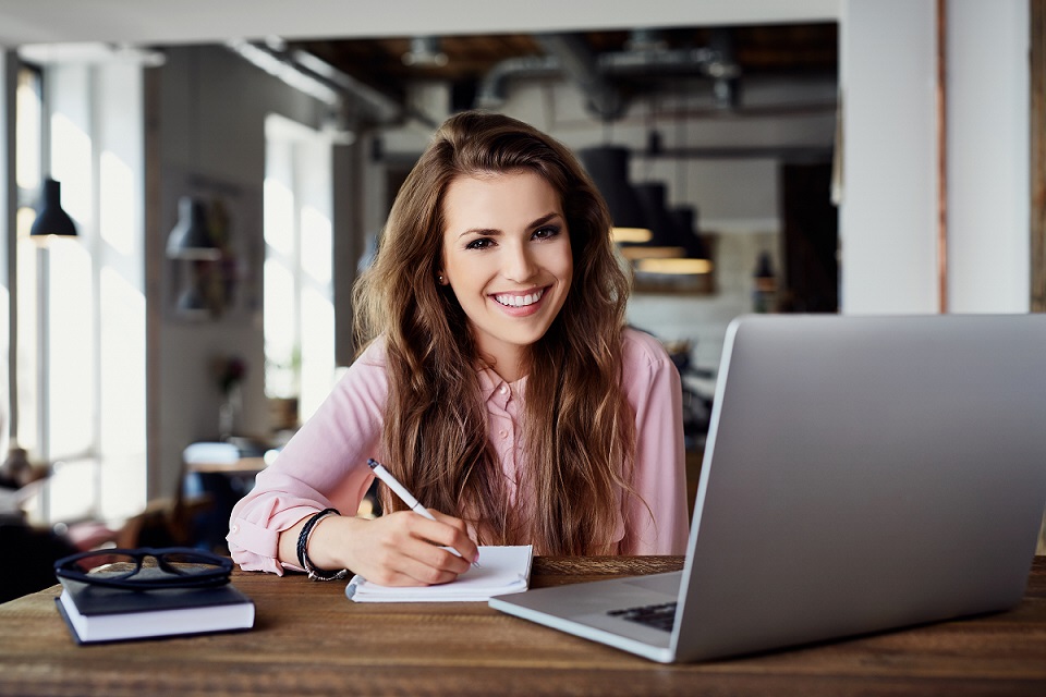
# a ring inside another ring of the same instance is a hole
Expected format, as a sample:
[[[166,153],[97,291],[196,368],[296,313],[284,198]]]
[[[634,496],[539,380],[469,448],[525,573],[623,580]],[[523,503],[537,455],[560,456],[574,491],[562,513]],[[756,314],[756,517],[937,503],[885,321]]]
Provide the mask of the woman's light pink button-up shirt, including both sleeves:
[[[620,554],[683,554],[689,517],[679,372],[660,343],[647,334],[627,330],[623,350],[622,381],[635,411],[632,485],[640,499],[619,493],[621,515],[612,539]],[[512,502],[514,482],[525,466],[518,426],[525,381],[510,384],[490,369],[479,371],[490,441]],[[378,341],[349,368],[233,509],[227,539],[241,567],[282,574],[284,564],[277,559],[282,530],[326,508],[355,513],[374,479],[367,458],[382,458],[387,394],[384,344]],[[625,529],[624,521],[631,522],[631,529]]]

